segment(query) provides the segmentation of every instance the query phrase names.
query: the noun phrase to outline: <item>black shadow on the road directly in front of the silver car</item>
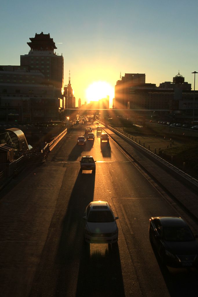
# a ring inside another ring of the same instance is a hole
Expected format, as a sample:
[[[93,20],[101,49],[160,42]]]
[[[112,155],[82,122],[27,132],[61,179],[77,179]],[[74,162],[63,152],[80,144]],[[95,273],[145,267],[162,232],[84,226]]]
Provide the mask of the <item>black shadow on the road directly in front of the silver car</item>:
[[[118,245],[109,244],[104,255],[97,250],[89,254],[86,248],[84,244],[76,297],[125,296]]]

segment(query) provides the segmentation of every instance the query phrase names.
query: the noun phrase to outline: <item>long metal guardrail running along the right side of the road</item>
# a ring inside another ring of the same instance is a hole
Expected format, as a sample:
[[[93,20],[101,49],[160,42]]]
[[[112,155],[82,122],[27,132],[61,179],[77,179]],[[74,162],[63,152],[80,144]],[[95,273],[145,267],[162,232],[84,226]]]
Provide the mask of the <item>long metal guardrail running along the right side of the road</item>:
[[[172,172],[178,174],[178,176],[184,178],[186,181],[188,181],[188,182],[192,183],[194,186],[198,187],[198,180],[195,179],[194,177],[192,177],[189,174],[185,173],[181,169],[175,167],[171,163],[165,161],[164,159],[162,159],[161,157],[159,157],[158,155],[156,155],[152,151],[149,151],[148,149],[143,147],[141,144],[135,142],[134,140],[132,140],[128,136],[126,136],[123,133],[119,132],[117,129],[115,129],[115,127],[109,126],[109,125],[103,123],[102,121],[99,121],[99,122],[101,124],[103,124],[105,127],[107,127],[108,129],[110,129],[111,131],[113,131],[115,134],[117,134],[120,137],[122,137],[123,139],[127,140],[127,142],[130,143],[131,145],[136,146],[138,149],[141,149],[145,154],[148,154],[148,156],[151,157],[154,161],[157,161],[157,162],[161,163],[164,167],[167,167],[169,170],[172,170]]]

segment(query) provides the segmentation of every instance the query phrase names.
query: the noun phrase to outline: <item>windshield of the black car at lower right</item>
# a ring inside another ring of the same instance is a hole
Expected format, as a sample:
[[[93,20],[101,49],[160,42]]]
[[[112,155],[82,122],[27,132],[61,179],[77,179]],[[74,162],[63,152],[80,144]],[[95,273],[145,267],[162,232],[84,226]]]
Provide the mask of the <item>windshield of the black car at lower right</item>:
[[[188,227],[165,227],[164,239],[167,241],[191,241],[194,236]]]

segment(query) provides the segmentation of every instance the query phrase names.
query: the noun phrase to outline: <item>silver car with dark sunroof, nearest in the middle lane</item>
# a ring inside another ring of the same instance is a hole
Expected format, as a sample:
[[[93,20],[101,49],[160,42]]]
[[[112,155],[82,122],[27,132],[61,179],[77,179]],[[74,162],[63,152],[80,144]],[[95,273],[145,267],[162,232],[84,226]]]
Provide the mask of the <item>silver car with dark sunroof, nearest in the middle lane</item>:
[[[118,227],[111,206],[106,201],[92,201],[85,209],[84,235],[88,243],[118,242]]]

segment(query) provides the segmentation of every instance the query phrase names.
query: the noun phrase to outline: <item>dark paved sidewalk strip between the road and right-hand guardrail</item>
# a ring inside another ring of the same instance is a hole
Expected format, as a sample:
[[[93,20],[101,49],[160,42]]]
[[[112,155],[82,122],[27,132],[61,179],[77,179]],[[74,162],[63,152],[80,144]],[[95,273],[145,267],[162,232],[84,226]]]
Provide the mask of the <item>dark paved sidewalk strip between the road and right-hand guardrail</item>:
[[[113,138],[132,158],[143,167],[154,180],[166,189],[194,219],[192,222],[194,231],[198,233],[198,195],[187,186],[167,173],[151,159],[147,158],[140,149],[130,145],[124,139],[113,133],[110,129],[104,130]]]

